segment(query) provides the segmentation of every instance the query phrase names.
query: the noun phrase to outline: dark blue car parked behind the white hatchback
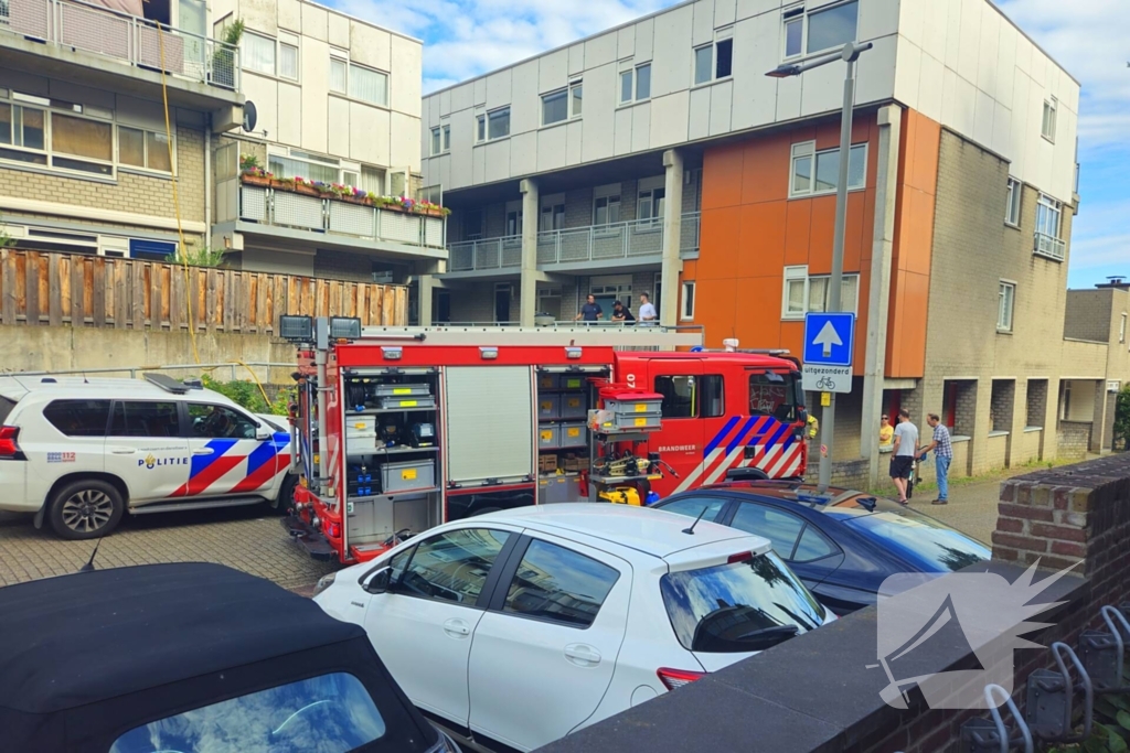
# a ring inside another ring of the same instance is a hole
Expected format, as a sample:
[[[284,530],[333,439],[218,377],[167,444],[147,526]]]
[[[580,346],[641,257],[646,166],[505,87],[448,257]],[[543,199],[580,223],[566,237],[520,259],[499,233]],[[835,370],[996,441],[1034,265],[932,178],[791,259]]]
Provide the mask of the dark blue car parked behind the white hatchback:
[[[875,604],[896,572],[951,572],[991,558],[981,542],[898,502],[846,489],[733,481],[687,491],[652,509],[765,536],[812,594],[843,615]]]

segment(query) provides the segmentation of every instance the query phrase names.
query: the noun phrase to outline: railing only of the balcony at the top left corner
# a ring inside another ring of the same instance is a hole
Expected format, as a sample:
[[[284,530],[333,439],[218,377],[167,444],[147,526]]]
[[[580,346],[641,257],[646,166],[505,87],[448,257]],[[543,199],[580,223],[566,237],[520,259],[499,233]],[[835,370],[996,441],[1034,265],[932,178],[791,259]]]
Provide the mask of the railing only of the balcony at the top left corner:
[[[81,0],[0,0],[0,30],[240,90],[240,49]],[[164,65],[162,64],[164,60]]]

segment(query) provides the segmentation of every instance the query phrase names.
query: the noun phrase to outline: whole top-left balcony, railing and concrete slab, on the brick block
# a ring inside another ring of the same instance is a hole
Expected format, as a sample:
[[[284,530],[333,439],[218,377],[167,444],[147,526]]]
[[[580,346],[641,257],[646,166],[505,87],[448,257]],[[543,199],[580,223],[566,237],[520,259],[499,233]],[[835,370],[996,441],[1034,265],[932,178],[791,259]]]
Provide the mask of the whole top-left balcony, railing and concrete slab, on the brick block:
[[[243,102],[238,46],[81,0],[0,0],[5,64],[139,94],[159,94],[164,70],[174,104]]]

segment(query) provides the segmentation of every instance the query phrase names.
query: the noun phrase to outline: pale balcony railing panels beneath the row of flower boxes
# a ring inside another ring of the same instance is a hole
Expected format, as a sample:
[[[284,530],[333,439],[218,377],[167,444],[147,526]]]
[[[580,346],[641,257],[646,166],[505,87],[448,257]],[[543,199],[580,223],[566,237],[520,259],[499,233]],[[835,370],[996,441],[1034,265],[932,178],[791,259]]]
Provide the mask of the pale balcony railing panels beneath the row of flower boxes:
[[[275,189],[241,185],[240,219],[313,233],[443,248],[443,218]]]

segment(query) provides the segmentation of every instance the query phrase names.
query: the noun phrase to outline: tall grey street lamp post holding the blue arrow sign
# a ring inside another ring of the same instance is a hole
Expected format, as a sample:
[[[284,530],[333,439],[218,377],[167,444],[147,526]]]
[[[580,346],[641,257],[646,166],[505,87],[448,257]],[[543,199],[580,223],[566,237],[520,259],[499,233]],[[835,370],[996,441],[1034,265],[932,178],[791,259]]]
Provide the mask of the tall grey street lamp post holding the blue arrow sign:
[[[840,124],[840,181],[836,183],[836,227],[832,239],[832,278],[828,284],[832,290],[828,295],[828,310],[843,310],[842,288],[844,272],[844,234],[847,225],[847,170],[851,164],[851,120],[852,106],[855,102],[855,61],[861,53],[870,50],[870,42],[855,44],[849,42],[843,50],[836,54],[817,58],[816,60],[802,63],[784,64],[773,69],[766,76],[773,78],[788,78],[800,76],[807,70],[819,68],[843,60],[847,63],[847,71],[844,76],[844,105]],[[812,172],[816,170],[816,159],[812,159]],[[815,177],[815,175],[814,175]],[[819,484],[817,491],[826,491],[832,482],[832,438],[836,427],[836,394],[829,394],[827,409],[823,412],[820,421],[820,445],[827,452],[820,453]]]

